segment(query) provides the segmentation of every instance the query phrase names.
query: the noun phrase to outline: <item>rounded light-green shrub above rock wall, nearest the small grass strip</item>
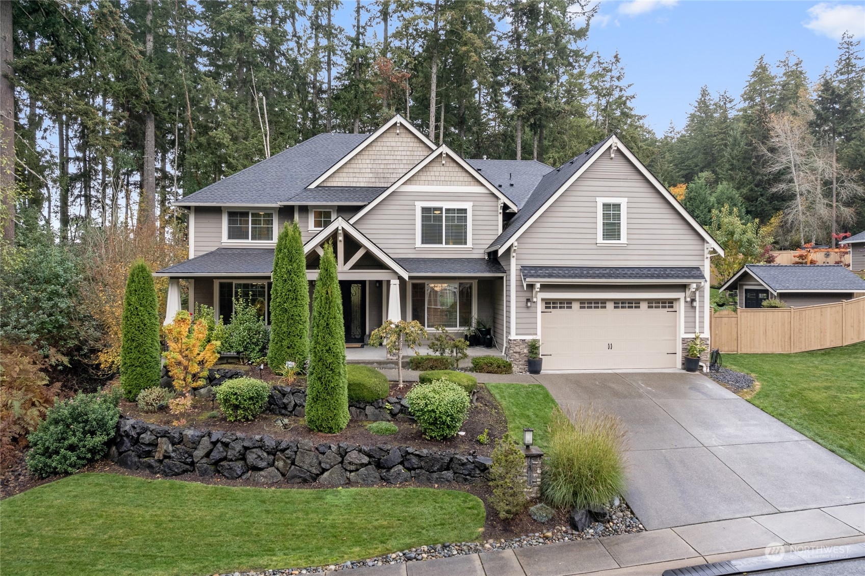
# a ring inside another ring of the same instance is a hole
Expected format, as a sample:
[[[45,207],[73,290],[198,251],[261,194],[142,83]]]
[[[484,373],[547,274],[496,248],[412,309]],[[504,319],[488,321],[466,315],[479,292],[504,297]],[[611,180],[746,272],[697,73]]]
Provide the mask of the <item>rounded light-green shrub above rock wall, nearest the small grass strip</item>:
[[[471,405],[465,389],[446,380],[419,384],[406,394],[406,400],[424,436],[431,440],[456,436]]]

